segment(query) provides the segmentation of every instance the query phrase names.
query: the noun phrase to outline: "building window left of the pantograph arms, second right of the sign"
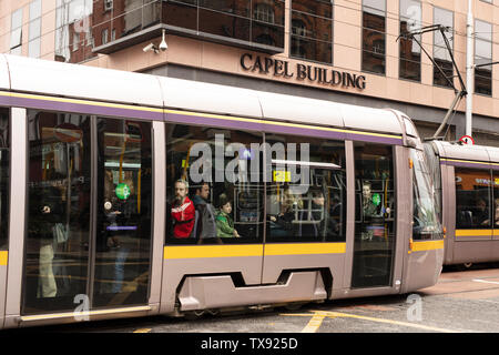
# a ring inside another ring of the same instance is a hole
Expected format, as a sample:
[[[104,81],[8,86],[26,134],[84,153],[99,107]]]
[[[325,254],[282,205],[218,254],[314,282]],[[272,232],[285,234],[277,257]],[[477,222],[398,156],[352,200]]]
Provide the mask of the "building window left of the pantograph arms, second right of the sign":
[[[415,0],[400,0],[400,34],[421,27],[421,3]],[[399,78],[421,81],[421,36],[400,38]]]

